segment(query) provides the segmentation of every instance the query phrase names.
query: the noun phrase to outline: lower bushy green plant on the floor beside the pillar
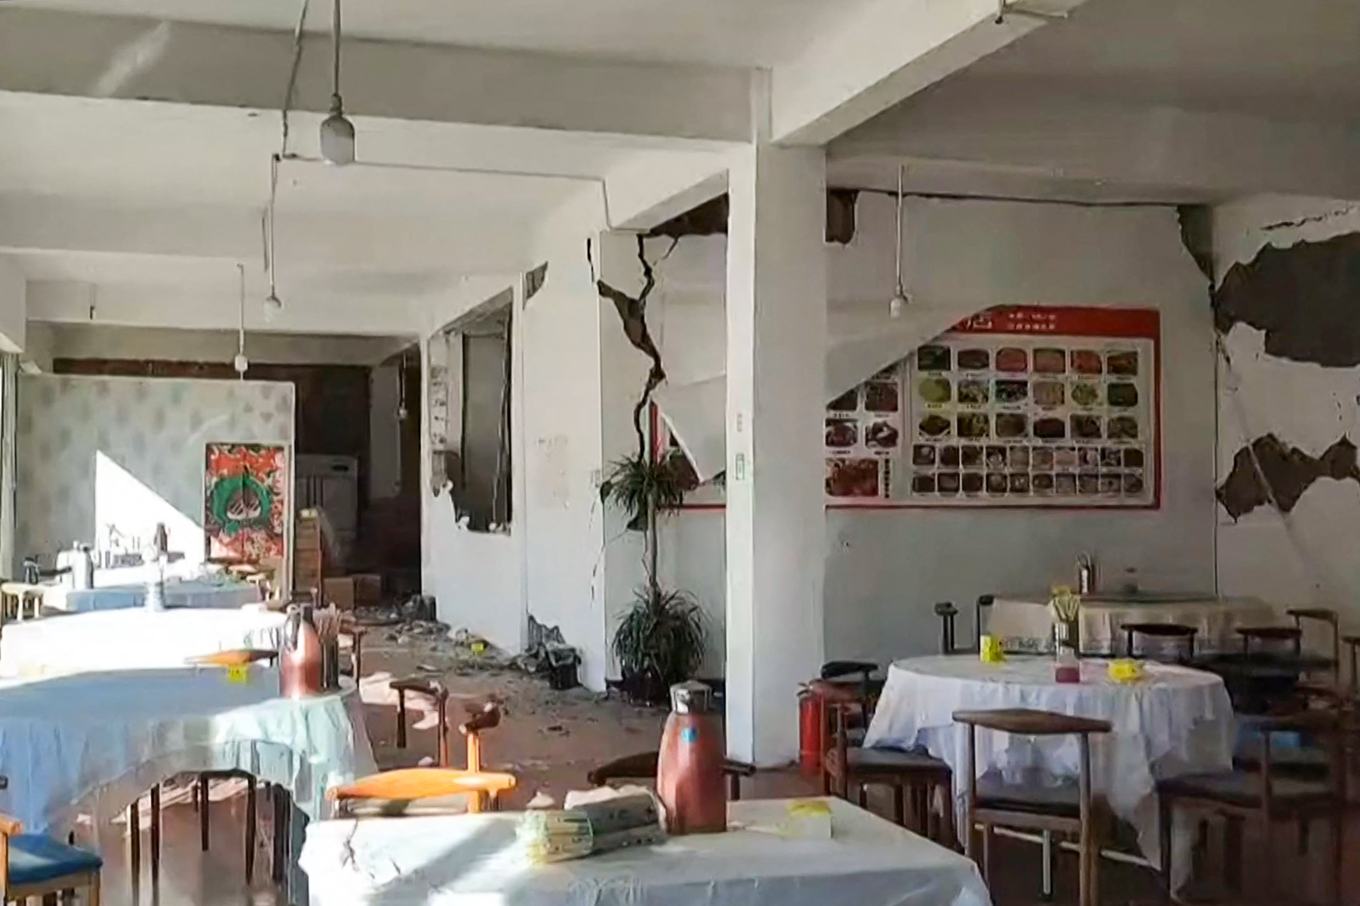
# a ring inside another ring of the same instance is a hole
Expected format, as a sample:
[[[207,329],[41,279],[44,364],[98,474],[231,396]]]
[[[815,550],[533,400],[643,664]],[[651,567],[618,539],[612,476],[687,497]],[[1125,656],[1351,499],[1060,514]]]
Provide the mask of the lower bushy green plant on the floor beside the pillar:
[[[698,602],[656,583],[639,588],[632,609],[613,634],[613,653],[626,686],[638,698],[664,702],[672,683],[684,682],[703,663],[707,633]]]

